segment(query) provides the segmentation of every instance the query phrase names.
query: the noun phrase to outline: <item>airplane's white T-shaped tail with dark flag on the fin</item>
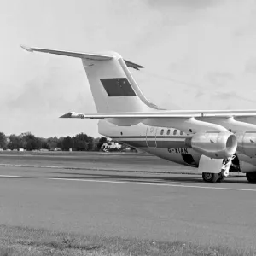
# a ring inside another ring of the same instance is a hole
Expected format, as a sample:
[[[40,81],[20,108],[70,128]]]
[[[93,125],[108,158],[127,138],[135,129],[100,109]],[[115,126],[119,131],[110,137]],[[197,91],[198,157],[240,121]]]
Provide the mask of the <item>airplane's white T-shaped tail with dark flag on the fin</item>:
[[[118,53],[88,54],[26,46],[22,48],[31,52],[39,51],[82,59],[98,113],[155,112],[160,109],[143,96],[128,69],[133,67],[139,70],[143,67],[125,61]]]

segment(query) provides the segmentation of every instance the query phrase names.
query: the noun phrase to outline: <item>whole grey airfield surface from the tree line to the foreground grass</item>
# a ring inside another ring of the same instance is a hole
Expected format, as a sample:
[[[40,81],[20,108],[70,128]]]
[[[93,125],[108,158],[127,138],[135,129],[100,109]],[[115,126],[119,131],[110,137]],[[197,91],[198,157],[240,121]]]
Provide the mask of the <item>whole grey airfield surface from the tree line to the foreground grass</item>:
[[[169,172],[192,169],[143,154],[1,153],[0,224],[256,248],[256,184]]]

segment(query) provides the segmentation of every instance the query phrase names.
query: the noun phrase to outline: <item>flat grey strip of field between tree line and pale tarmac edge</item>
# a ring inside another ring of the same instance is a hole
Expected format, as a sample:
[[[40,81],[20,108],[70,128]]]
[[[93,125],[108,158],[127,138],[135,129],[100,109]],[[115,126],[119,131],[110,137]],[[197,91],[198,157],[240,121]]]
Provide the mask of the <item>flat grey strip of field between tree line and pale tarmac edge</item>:
[[[55,166],[75,169],[104,169],[138,172],[170,172],[170,162],[149,154],[99,152],[0,152],[0,165]],[[195,172],[172,163],[178,170]],[[173,172],[174,170],[172,170]]]

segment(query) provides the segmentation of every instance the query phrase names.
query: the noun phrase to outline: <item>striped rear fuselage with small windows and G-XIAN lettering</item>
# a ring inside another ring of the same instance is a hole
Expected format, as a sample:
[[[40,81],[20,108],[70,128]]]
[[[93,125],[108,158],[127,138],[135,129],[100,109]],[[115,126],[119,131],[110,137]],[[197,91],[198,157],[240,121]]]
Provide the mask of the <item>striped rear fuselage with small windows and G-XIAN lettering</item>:
[[[99,121],[98,127],[99,133],[103,136],[133,148],[140,148],[149,154],[182,165],[197,167],[199,164],[201,154],[189,148],[186,139],[191,135],[187,135],[183,131],[143,124],[118,126],[103,120]]]

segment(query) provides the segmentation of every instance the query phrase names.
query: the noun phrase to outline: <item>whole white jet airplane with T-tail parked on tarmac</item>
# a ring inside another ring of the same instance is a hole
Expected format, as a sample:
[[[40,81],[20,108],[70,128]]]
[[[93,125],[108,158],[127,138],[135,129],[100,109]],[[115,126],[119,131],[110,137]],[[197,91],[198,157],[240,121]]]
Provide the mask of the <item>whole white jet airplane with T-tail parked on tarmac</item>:
[[[162,159],[198,168],[207,183],[230,172],[256,183],[256,110],[166,110],[149,102],[116,52],[79,53],[31,48],[29,52],[82,60],[97,113],[69,112],[60,118],[98,119],[98,132]]]

